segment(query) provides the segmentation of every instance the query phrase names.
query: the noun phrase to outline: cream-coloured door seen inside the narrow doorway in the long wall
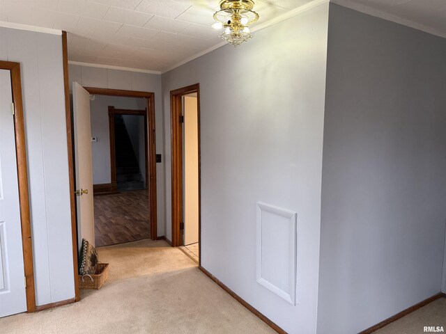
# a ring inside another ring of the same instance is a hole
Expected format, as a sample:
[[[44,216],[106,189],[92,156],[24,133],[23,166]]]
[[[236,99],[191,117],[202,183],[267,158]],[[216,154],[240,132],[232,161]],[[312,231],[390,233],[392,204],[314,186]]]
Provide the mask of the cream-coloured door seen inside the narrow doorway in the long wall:
[[[197,97],[184,97],[184,244],[198,242],[198,104]]]

